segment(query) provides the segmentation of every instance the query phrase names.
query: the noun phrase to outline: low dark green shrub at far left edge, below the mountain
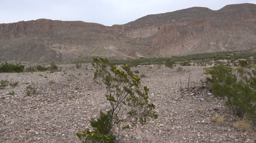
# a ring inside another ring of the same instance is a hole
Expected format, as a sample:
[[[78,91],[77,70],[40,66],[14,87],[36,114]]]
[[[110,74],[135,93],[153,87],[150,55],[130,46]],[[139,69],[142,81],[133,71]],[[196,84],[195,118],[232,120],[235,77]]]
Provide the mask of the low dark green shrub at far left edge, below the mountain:
[[[10,63],[2,63],[0,65],[0,72],[23,72],[24,71],[24,65],[14,65],[14,64],[10,64]]]

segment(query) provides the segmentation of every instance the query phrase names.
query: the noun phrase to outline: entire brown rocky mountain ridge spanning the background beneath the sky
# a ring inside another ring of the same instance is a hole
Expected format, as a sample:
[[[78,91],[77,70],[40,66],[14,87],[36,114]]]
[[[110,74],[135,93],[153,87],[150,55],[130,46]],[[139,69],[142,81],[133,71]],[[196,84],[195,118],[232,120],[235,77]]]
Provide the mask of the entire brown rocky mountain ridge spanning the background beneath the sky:
[[[39,19],[0,24],[0,60],[70,62],[256,48],[256,5],[189,8],[106,27]]]

